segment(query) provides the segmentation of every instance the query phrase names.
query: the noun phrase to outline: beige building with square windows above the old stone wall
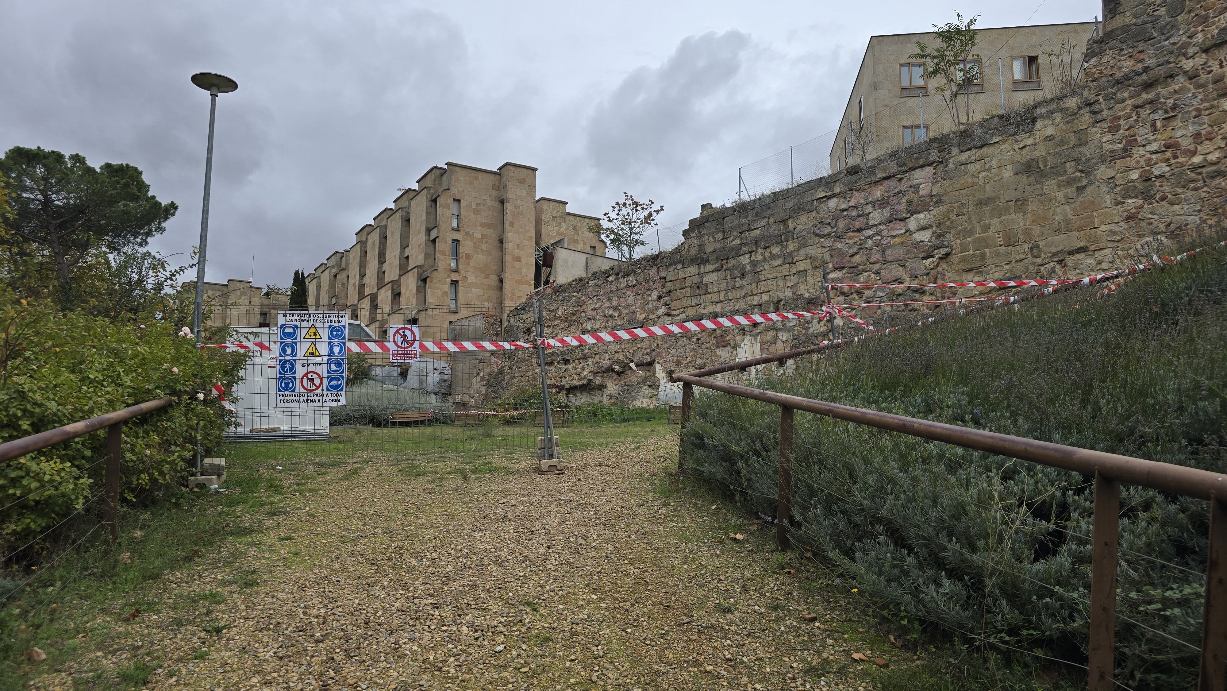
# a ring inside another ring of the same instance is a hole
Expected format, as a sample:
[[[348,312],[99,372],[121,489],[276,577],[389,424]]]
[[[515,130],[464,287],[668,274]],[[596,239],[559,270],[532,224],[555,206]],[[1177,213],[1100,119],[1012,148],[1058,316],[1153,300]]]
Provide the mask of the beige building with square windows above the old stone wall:
[[[1071,91],[1097,28],[1080,22],[978,29],[979,59],[969,63],[979,81],[960,96],[960,112],[971,113],[961,118],[975,123]],[[942,79],[925,83],[924,64],[909,58],[918,41],[936,43],[931,32],[870,37],[831,146],[832,172],[955,130],[937,93]]]

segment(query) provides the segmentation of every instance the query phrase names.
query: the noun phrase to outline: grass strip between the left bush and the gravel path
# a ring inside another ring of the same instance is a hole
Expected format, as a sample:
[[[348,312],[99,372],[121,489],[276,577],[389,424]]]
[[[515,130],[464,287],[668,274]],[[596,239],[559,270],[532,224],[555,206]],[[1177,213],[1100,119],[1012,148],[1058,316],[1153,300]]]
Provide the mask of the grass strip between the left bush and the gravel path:
[[[123,635],[113,632],[112,626],[126,623],[120,617],[136,609],[141,610],[137,619],[166,609],[157,592],[162,577],[189,568],[227,542],[260,533],[264,517],[249,509],[274,500],[277,486],[265,473],[232,465],[225,493],[177,488],[151,506],[121,506],[120,535],[113,550],[107,549],[97,530],[59,558],[53,552],[40,568],[10,571],[0,577],[10,584],[0,593],[12,590],[0,603],[0,691],[28,689],[31,676],[48,665],[63,666],[106,646],[112,636]],[[226,600],[216,590],[185,598],[171,606],[178,611]],[[56,605],[54,610],[52,605]],[[188,614],[177,614],[179,621],[184,616]],[[91,626],[98,620],[108,623]],[[77,638],[80,633],[87,636]],[[47,662],[32,665],[26,660],[26,650],[34,647],[47,653]],[[120,670],[120,682],[136,684],[155,669],[134,662]],[[102,674],[96,681],[104,684],[108,679]]]

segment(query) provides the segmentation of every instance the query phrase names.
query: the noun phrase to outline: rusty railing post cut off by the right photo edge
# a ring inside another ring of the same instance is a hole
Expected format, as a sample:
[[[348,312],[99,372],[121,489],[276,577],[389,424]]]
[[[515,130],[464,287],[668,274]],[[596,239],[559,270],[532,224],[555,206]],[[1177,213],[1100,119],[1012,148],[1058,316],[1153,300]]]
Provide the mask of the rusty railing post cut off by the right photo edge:
[[[1206,603],[1201,616],[1201,673],[1198,691],[1227,686],[1227,502],[1210,496]]]

